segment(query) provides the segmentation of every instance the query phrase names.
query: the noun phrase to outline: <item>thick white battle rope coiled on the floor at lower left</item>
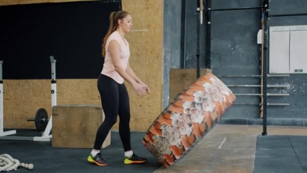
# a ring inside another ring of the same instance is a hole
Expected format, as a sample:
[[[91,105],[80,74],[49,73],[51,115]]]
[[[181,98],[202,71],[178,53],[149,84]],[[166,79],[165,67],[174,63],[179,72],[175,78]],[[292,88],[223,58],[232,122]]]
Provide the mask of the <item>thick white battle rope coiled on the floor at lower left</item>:
[[[33,169],[33,164],[20,163],[19,160],[14,159],[9,154],[0,155],[0,172],[17,170],[18,166],[24,167],[26,169]]]

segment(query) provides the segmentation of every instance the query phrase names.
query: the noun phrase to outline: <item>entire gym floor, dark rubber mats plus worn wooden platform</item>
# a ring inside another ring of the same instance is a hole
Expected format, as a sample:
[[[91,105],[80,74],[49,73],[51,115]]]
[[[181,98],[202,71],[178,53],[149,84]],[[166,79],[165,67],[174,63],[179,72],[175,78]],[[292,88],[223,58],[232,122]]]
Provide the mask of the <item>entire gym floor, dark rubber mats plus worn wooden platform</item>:
[[[21,133],[34,134],[35,130]],[[307,127],[268,126],[261,136],[260,125],[216,125],[182,160],[165,168],[142,145],[144,133],[132,132],[136,154],[144,164],[125,165],[118,132],[111,145],[101,150],[110,166],[87,163],[90,149],[53,148],[49,142],[0,140],[0,154],[10,154],[34,169],[18,172],[306,172]]]

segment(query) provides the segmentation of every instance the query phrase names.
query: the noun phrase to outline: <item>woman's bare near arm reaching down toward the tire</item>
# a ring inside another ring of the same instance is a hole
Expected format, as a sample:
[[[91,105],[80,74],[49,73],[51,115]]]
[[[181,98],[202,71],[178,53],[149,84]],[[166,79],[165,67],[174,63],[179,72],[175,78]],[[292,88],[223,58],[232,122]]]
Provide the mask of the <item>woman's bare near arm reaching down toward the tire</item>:
[[[133,89],[138,95],[146,94],[145,89],[143,89],[143,86],[139,84],[136,80],[134,80],[127,72],[126,70],[121,66],[121,57],[120,57],[120,45],[116,40],[110,41],[109,44],[109,52],[112,57],[113,65],[115,70],[131,85],[133,86]]]

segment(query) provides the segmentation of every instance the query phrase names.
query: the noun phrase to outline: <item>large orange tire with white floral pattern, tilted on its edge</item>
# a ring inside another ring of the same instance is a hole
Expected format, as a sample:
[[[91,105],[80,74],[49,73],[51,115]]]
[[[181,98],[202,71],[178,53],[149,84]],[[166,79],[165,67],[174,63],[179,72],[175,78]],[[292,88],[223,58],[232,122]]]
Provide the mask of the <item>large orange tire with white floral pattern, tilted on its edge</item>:
[[[235,99],[220,79],[207,73],[177,95],[149,126],[142,143],[169,167],[213,128]]]

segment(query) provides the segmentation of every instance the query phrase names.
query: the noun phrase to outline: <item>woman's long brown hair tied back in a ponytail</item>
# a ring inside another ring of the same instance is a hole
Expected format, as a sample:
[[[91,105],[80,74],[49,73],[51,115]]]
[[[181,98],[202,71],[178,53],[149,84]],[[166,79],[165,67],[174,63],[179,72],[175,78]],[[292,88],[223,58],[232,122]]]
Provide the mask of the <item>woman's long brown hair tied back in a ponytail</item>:
[[[101,55],[103,57],[106,56],[106,44],[107,44],[107,40],[109,38],[109,36],[116,31],[117,27],[118,27],[118,19],[123,19],[124,17],[126,17],[129,13],[125,12],[125,11],[118,11],[118,12],[112,12],[110,14],[110,26],[109,26],[109,30],[106,34],[106,36],[104,37],[103,41],[103,49],[101,50]]]

